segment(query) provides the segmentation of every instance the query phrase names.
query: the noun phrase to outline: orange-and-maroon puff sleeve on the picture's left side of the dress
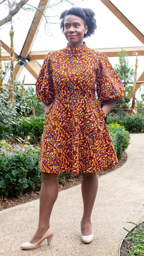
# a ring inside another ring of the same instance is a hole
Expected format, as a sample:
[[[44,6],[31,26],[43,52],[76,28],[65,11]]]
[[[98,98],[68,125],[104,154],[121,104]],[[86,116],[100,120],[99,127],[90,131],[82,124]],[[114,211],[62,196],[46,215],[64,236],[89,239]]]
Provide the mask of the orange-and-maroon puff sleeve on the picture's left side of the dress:
[[[55,87],[53,84],[51,55],[48,53],[36,81],[36,94],[39,101],[51,104],[55,98]]]

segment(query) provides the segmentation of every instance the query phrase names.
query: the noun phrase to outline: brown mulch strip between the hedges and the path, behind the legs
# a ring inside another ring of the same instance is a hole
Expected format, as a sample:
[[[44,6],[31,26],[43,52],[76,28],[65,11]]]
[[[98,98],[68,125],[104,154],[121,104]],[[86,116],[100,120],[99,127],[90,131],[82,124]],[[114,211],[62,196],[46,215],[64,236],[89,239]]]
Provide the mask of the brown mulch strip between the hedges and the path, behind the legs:
[[[119,167],[125,164],[126,160],[127,160],[127,153],[124,152],[121,158],[119,159],[119,163],[117,165],[99,171],[98,176],[101,177],[107,173],[110,173],[111,171],[118,169]],[[81,175],[79,175],[79,176],[74,176],[73,180],[65,180],[64,184],[61,184],[61,183],[59,184],[59,191],[81,184],[81,179],[82,177]],[[0,211],[19,205],[19,204],[30,202],[32,200],[36,200],[39,198],[39,194],[40,194],[40,191],[36,191],[36,192],[29,192],[26,194],[22,194],[20,197],[8,197],[4,200],[1,199]]]

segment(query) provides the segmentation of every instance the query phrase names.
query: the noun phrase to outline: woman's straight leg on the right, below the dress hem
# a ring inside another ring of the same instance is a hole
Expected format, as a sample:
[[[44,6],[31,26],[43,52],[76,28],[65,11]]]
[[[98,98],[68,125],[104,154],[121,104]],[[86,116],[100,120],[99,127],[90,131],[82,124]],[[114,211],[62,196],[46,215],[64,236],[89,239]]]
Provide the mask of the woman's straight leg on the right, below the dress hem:
[[[81,191],[83,198],[83,217],[81,221],[82,236],[92,234],[91,213],[98,190],[98,175],[96,173],[82,173]]]

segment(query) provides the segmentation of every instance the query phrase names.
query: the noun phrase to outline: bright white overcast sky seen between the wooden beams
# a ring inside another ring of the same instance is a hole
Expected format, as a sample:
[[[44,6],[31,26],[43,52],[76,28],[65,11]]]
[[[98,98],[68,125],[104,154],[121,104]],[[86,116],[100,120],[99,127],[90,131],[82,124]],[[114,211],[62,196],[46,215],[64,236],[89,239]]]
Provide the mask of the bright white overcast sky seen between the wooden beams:
[[[56,1],[51,0],[50,5]],[[135,27],[137,27],[137,29],[140,30],[141,33],[144,34],[144,0],[111,0],[111,2],[133,23]],[[28,3],[37,7],[39,0],[30,0]],[[112,14],[112,12],[105,5],[103,5],[100,0],[79,0],[79,4],[77,6],[91,8],[96,13],[97,31],[95,35],[86,39],[86,44],[88,47],[111,48],[143,46],[143,44],[118,20],[117,17],[115,17],[114,14]],[[58,50],[66,46],[67,41],[60,29],[59,16],[63,10],[70,8],[70,5],[62,3],[58,8],[47,9],[47,16],[57,15],[57,17],[51,18],[50,21],[59,24],[48,24],[44,31],[45,19],[43,19],[32,51]],[[6,9],[1,10],[1,13],[3,13],[3,17],[5,17]],[[3,17],[1,16],[1,18]],[[34,12],[20,11],[14,18],[14,47],[17,54],[19,54],[21,51],[33,17]],[[0,27],[0,39],[7,45],[10,45],[10,26],[11,25],[8,24]],[[4,50],[2,52],[4,52]],[[128,59],[129,64],[133,65],[134,68],[135,56],[128,57]],[[113,66],[118,63],[117,57],[109,58],[109,60]],[[138,60],[139,66],[137,78],[144,71],[144,56],[139,56]],[[43,60],[39,61],[40,64],[42,64],[42,62]],[[35,83],[35,79],[29,75],[29,72],[26,69],[23,69],[20,80],[23,80],[25,74],[25,83]]]

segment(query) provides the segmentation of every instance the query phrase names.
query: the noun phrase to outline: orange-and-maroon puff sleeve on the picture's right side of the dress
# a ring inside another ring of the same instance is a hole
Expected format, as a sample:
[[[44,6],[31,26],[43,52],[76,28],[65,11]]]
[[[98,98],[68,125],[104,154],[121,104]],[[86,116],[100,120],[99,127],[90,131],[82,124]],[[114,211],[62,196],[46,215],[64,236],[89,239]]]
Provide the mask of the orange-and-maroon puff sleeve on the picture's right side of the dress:
[[[99,101],[106,103],[107,99],[123,98],[125,88],[104,53],[100,54],[96,72],[96,91]]]

